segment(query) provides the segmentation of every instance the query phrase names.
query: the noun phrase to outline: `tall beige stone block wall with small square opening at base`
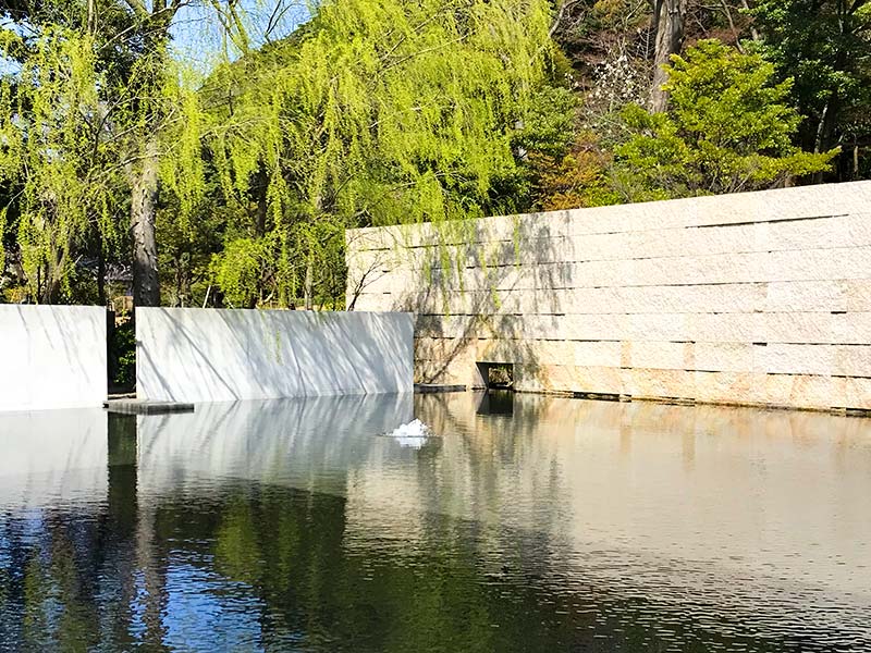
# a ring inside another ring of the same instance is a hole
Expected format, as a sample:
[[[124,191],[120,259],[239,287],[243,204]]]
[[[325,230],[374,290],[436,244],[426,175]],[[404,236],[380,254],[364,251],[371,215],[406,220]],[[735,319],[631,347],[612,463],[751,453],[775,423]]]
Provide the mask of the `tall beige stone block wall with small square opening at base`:
[[[871,182],[347,233],[348,304],[416,379],[871,409]]]

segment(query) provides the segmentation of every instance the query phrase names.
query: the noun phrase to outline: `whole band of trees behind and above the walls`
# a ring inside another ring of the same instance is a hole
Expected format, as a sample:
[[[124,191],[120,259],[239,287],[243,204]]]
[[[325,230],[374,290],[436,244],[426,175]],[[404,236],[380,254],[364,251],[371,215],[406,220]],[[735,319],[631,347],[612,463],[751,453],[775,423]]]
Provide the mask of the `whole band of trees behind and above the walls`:
[[[0,5],[0,300],[341,307],[348,227],[871,174],[867,0],[282,1],[185,14],[205,75],[188,0]]]

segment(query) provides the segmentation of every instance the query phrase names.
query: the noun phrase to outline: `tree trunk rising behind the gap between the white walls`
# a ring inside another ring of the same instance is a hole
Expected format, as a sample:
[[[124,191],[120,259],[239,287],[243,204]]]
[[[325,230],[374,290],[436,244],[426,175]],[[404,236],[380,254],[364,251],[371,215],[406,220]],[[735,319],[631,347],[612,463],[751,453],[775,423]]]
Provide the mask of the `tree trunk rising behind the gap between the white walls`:
[[[131,231],[133,233],[133,304],[160,306],[160,280],[157,274],[157,215],[159,153],[157,141],[145,146],[142,169],[133,182]]]

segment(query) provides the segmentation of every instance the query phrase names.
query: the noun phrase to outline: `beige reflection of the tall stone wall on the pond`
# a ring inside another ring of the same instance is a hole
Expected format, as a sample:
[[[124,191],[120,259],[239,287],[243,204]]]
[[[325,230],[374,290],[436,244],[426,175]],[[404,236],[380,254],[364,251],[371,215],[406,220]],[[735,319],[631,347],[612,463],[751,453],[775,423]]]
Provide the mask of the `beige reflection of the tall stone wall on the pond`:
[[[441,513],[494,538],[543,533],[634,590],[793,587],[869,605],[871,421],[530,395],[506,420],[476,415],[477,401],[418,397],[441,446],[404,467],[372,449],[351,477],[351,542],[401,549]]]

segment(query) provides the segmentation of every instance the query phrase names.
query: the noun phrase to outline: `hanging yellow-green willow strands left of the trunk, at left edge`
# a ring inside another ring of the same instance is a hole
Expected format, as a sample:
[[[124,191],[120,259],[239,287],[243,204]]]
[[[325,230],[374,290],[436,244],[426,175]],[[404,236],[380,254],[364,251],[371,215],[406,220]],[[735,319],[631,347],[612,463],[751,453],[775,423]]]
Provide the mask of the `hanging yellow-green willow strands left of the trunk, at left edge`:
[[[25,48],[23,63],[13,65]],[[103,81],[93,39],[62,27],[26,44],[3,29],[0,53],[0,181],[12,189],[0,226],[13,209],[28,294],[54,303],[69,295],[85,245],[118,241],[124,184],[100,125]]]

